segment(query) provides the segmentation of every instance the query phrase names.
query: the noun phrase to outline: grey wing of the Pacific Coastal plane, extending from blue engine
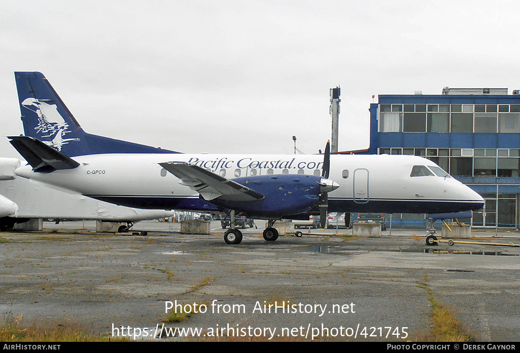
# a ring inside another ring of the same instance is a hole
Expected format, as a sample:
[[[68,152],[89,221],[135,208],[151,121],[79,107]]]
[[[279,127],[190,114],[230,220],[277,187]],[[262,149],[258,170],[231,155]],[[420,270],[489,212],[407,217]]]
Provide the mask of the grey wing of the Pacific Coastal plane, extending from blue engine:
[[[229,201],[257,201],[264,198],[264,195],[249,187],[191,163],[165,162],[159,165],[179,178],[181,185],[189,186],[207,201],[217,197]]]

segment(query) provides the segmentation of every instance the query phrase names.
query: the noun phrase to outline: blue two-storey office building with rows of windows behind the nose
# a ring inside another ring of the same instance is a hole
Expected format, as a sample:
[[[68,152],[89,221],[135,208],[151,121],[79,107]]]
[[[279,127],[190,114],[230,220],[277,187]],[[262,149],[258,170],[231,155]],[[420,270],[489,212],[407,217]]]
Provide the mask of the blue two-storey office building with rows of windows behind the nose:
[[[519,91],[445,87],[442,94],[380,95],[370,105],[369,153],[426,157],[473,188],[486,201],[473,213],[473,227],[520,224]]]

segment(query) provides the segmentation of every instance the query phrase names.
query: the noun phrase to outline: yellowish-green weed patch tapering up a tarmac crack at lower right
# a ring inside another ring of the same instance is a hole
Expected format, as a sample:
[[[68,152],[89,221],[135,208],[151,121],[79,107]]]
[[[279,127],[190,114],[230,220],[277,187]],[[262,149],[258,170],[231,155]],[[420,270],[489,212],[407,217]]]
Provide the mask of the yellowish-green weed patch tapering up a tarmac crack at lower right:
[[[428,275],[425,274],[423,281],[418,283],[419,288],[423,288],[428,293],[428,301],[432,305],[430,313],[432,320],[432,329],[422,337],[418,337],[419,341],[425,342],[473,342],[475,337],[467,331],[464,325],[458,320],[455,309],[447,307],[439,303],[433,291],[428,286]]]

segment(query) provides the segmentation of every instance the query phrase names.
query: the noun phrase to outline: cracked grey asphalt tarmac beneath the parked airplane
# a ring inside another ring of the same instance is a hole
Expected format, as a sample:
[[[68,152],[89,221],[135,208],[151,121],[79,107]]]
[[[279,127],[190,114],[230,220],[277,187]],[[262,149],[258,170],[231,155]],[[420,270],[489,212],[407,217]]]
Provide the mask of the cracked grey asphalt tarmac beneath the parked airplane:
[[[138,340],[417,341],[431,330],[430,290],[476,340],[520,340],[518,247],[427,247],[424,230],[395,229],[382,238],[314,230],[266,242],[264,223],[257,225],[234,246],[219,222],[211,235],[183,235],[178,223],[158,221],[134,226],[146,237],[96,234],[91,221],[2,233],[0,309],[5,318]],[[474,235],[520,243],[517,232]],[[197,313],[164,323],[175,304]]]

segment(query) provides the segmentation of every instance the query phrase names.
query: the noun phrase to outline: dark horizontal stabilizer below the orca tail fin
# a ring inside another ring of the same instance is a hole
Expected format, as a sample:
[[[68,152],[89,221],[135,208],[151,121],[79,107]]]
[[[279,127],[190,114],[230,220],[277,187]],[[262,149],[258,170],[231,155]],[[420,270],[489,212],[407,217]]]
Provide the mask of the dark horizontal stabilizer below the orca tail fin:
[[[13,147],[33,167],[35,172],[50,173],[60,169],[74,169],[80,164],[59,153],[45,143],[28,136],[8,137]]]

